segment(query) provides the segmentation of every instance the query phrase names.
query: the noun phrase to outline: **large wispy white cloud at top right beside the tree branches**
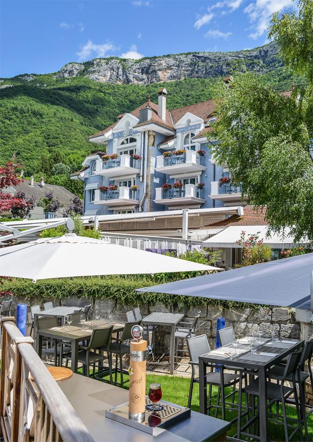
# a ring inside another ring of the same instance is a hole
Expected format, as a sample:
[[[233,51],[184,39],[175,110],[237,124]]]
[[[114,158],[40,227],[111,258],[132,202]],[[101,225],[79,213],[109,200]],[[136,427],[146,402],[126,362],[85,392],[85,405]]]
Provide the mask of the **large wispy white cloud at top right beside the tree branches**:
[[[249,35],[251,38],[258,38],[266,32],[270,17],[276,11],[281,11],[285,8],[295,8],[292,0],[255,0],[253,3],[243,10],[253,23],[253,32]]]

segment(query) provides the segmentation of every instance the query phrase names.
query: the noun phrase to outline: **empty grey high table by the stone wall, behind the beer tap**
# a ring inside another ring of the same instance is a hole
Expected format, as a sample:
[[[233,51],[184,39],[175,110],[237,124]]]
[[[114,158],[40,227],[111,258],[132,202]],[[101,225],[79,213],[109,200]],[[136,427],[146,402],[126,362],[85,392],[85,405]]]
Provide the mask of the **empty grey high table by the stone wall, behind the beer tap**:
[[[170,373],[174,373],[175,361],[175,327],[183,319],[182,313],[167,313],[156,311],[142,319],[144,325],[160,325],[171,327],[170,348],[169,348],[169,366]]]

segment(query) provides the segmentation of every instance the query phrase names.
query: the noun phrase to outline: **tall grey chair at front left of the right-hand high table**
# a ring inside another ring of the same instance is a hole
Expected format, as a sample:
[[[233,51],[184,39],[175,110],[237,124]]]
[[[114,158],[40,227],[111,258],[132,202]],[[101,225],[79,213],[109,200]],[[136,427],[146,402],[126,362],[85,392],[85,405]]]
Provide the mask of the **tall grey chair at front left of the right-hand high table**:
[[[187,347],[190,356],[189,364],[191,365],[191,380],[189,387],[188,405],[191,406],[192,390],[193,384],[199,384],[199,378],[196,377],[196,367],[199,366],[199,356],[210,352],[210,346],[208,337],[206,334],[201,334],[199,336],[194,336],[187,339]],[[213,371],[213,366],[211,367],[211,372],[207,374],[207,384],[209,385],[209,398],[208,398],[208,412],[211,409],[215,409],[215,417],[217,417],[218,411],[222,412],[222,419],[225,418],[225,405],[228,405],[228,410],[237,410],[237,406],[234,402],[226,402],[226,399],[233,396],[234,393],[229,393],[225,396],[224,388],[232,387],[237,383],[241,383],[242,377],[240,374],[225,373],[223,367],[220,367],[221,372]],[[212,386],[218,387],[217,401],[215,405],[212,405]],[[221,399],[220,399],[221,397]]]

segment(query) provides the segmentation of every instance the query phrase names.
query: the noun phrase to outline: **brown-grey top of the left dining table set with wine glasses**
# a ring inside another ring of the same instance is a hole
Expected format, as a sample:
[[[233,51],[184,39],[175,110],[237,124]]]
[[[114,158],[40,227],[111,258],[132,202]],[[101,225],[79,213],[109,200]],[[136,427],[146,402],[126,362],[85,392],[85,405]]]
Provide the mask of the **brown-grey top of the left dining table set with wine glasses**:
[[[99,321],[99,324],[96,326],[97,328],[108,327],[110,323],[108,321]],[[112,323],[113,325],[113,333],[122,331],[124,329],[124,323]],[[80,324],[73,324],[71,326],[65,326],[67,331],[64,331],[64,327],[57,327],[58,330],[45,329],[45,330],[37,330],[37,333],[41,336],[47,336],[55,339],[64,339],[64,340],[78,340],[83,341],[85,339],[89,339],[92,331],[82,330]]]

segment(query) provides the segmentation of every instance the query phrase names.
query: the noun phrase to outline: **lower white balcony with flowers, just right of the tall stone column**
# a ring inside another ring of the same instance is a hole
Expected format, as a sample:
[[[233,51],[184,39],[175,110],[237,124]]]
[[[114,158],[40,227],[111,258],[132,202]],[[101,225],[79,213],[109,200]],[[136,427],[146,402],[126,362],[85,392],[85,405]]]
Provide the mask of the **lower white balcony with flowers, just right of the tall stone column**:
[[[165,204],[169,207],[194,207],[201,206],[206,200],[203,198],[204,189],[199,189],[194,184],[186,184],[181,189],[162,189],[156,188],[157,204]]]

